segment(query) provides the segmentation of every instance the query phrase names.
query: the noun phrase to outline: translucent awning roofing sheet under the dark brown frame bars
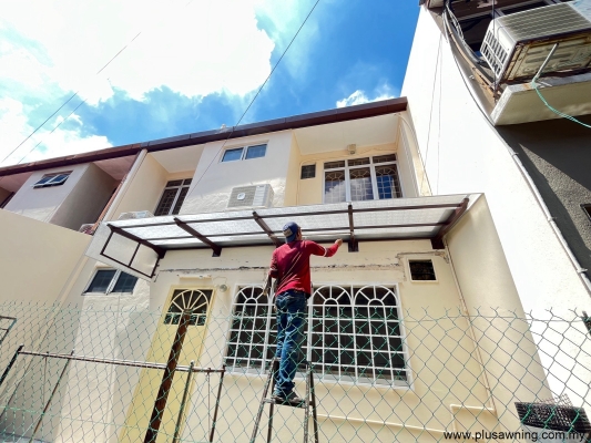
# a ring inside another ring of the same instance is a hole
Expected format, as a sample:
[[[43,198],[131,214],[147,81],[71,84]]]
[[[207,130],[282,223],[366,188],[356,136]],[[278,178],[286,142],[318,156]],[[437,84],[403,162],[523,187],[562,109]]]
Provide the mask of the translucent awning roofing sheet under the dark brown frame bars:
[[[466,195],[398,198],[353,202],[351,210],[348,203],[337,203],[256,209],[255,213],[281,241],[287,222],[297,223],[304,236],[313,240],[347,236],[351,228],[358,241],[430,238],[445,226],[465,198]],[[128,219],[109,225],[164,249],[211,247],[179,226],[175,219],[220,247],[274,244],[255,220],[253,210]]]

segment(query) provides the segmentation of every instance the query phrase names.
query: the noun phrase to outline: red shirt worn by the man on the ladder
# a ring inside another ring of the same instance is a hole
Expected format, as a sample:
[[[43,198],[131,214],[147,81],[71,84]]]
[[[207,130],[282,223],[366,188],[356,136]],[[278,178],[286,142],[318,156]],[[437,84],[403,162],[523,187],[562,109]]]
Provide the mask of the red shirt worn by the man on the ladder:
[[[325,248],[312,240],[294,240],[279,246],[273,251],[268,272],[271,277],[277,279],[275,293],[285,292],[288,289],[312,293],[309,256],[333,257],[337,250],[336,244]]]

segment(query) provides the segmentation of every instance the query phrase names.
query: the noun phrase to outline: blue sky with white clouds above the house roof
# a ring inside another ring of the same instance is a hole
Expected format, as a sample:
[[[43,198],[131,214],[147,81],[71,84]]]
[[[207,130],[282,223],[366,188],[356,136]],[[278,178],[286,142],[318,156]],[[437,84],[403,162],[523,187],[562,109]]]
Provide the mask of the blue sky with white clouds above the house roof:
[[[315,3],[0,0],[0,166],[399,96],[418,0]]]

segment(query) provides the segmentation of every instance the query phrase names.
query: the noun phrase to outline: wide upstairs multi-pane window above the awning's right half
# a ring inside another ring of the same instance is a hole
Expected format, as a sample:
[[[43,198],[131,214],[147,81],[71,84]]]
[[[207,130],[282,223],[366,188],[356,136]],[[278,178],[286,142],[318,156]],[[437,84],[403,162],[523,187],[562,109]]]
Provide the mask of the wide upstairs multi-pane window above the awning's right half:
[[[401,196],[396,154],[324,164],[324,203]]]

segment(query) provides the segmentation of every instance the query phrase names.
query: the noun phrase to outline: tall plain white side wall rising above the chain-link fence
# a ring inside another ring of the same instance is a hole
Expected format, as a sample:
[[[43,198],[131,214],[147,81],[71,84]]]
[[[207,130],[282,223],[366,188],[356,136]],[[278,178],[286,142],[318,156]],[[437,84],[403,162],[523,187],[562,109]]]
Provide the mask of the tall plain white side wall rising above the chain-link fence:
[[[486,193],[523,309],[591,310],[589,293],[425,8],[401,95],[408,97],[432,193]]]

